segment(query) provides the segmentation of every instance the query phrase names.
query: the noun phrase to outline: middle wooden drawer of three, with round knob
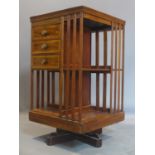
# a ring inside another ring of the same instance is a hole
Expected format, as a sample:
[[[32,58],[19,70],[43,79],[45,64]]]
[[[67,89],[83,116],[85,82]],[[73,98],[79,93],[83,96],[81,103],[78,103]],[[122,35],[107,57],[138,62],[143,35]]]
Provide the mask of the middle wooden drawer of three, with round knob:
[[[32,42],[32,53],[58,53],[60,52],[61,42],[60,40],[50,41],[33,41]]]

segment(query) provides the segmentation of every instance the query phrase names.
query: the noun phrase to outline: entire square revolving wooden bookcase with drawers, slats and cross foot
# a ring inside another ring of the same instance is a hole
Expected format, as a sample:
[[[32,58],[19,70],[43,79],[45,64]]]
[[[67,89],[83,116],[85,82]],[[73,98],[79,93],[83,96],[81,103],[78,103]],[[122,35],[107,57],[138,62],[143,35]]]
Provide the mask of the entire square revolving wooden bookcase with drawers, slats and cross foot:
[[[124,120],[124,26],[84,6],[31,17],[29,119],[57,129],[48,145],[101,146],[102,128]]]

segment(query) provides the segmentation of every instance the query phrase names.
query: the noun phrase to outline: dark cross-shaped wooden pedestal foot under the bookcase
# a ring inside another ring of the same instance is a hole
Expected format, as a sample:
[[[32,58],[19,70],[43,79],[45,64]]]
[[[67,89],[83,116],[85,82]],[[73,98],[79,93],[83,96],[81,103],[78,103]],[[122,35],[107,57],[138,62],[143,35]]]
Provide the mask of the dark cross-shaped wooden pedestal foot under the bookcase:
[[[101,133],[102,129],[98,129],[96,131],[86,134],[76,134],[62,129],[57,129],[55,133],[51,133],[49,135],[46,143],[47,145],[55,145],[76,139],[94,147],[101,147],[102,146]]]

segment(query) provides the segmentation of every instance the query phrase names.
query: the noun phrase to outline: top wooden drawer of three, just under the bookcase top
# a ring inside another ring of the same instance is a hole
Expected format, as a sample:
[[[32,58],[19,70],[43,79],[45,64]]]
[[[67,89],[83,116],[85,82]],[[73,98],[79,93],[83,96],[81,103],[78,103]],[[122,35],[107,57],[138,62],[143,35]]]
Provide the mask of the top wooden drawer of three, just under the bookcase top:
[[[60,24],[32,25],[32,40],[60,39]]]

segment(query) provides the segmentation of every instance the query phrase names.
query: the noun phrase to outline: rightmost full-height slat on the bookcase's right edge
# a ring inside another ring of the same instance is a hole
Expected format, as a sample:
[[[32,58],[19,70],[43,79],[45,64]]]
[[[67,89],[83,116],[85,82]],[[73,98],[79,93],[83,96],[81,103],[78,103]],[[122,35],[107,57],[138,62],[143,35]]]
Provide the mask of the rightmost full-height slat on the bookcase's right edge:
[[[121,106],[121,111],[124,111],[124,38],[125,38],[125,32],[124,32],[124,26],[123,26],[123,36],[122,36],[122,106]]]

